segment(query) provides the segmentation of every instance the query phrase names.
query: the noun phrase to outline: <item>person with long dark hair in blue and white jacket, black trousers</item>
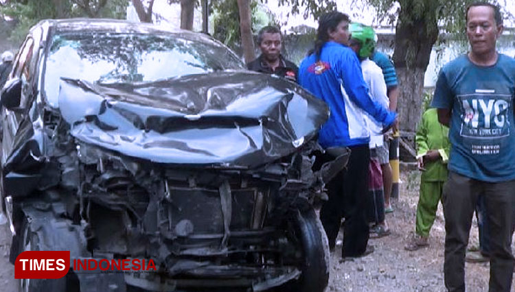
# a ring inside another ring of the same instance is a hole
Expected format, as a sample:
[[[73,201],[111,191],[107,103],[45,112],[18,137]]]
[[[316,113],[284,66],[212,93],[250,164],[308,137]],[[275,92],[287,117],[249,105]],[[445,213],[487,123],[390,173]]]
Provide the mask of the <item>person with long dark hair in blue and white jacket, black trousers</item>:
[[[321,208],[320,219],[334,250],[336,236],[343,227],[343,258],[369,254],[367,249],[367,192],[369,130],[365,113],[385,127],[396,125],[396,114],[371,99],[363,80],[361,63],[348,47],[349,16],[328,12],[319,19],[314,49],[301,62],[298,81],[330,107],[330,118],[319,132],[319,143],[330,155],[333,149],[351,150],[346,169],[328,183],[328,202]]]

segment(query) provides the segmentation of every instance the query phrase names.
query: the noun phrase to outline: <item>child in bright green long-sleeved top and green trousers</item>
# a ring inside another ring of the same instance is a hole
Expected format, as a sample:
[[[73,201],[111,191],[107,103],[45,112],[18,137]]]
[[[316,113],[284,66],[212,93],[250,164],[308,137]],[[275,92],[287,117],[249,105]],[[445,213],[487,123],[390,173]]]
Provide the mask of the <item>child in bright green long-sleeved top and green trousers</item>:
[[[438,121],[436,108],[422,114],[415,142],[417,143],[417,165],[422,171],[420,197],[417,204],[415,236],[405,250],[419,250],[429,245],[428,237],[436,217],[438,202],[442,198],[444,182],[447,180],[447,161],[450,150],[449,128]]]

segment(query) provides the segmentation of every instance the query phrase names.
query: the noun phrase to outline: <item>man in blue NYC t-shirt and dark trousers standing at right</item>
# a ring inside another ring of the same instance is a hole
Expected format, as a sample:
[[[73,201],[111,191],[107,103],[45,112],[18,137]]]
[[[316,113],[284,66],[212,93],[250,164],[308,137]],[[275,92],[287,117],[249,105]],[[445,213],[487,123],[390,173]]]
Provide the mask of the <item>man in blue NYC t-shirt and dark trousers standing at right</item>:
[[[432,106],[450,125],[452,145],[442,201],[445,285],[465,291],[464,256],[474,208],[485,200],[490,228],[489,291],[510,291],[515,228],[515,60],[498,53],[503,32],[499,7],[477,2],[466,9],[470,52],[440,71]]]

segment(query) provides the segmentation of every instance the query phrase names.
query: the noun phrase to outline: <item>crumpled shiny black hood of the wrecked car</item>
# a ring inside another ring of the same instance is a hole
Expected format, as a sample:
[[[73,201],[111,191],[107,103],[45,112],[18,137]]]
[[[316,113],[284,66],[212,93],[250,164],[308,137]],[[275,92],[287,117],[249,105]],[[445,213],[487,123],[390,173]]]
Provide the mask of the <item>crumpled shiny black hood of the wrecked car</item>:
[[[141,84],[62,79],[70,134],[165,164],[255,167],[293,153],[328,119],[323,101],[293,82],[220,71]]]

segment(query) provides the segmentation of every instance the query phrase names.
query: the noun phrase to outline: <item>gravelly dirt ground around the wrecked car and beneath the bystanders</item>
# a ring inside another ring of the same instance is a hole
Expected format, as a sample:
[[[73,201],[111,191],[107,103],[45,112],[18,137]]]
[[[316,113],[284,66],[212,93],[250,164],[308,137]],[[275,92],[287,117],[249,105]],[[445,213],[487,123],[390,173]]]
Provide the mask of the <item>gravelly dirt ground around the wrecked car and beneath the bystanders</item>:
[[[431,230],[430,246],[407,252],[404,244],[415,229],[420,175],[417,171],[401,173],[400,195],[393,201],[393,213],[387,214],[391,234],[371,239],[375,252],[354,261],[342,262],[337,247],[331,255],[331,274],[327,292],[436,292],[444,289],[444,217],[439,206]],[[341,235],[340,235],[341,236]],[[341,239],[341,238],[340,238]],[[471,231],[471,245],[477,245],[477,224]],[[0,226],[0,291],[17,291],[14,267],[9,263],[10,231]],[[466,264],[467,291],[488,291],[489,264]],[[514,284],[515,287],[515,284]]]

